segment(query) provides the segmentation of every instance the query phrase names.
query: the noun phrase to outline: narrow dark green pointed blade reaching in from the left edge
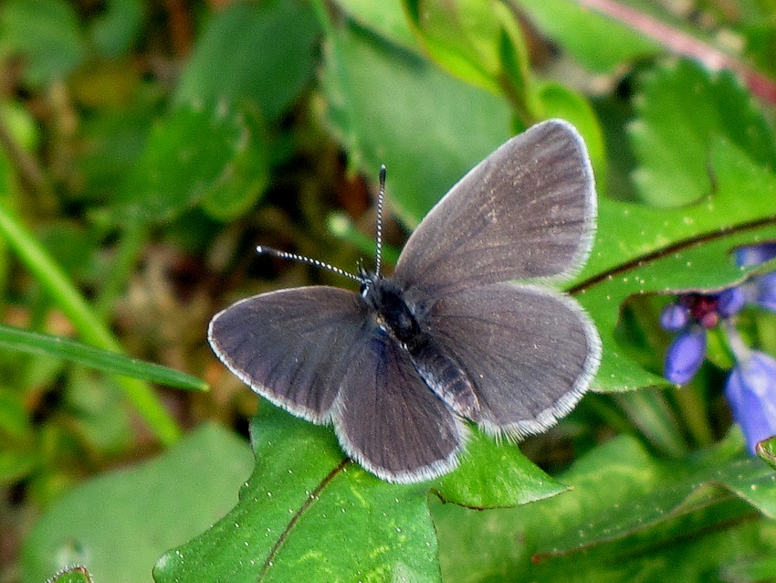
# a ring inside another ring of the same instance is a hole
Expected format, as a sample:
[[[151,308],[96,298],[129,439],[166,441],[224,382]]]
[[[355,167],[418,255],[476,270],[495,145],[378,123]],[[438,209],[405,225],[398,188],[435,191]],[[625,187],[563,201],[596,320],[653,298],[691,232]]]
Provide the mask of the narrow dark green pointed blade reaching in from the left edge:
[[[136,358],[83,345],[62,336],[39,334],[0,324],[0,346],[29,355],[64,358],[96,370],[122,376],[142,378],[168,387],[207,390],[207,384],[195,376],[173,368],[142,362]]]

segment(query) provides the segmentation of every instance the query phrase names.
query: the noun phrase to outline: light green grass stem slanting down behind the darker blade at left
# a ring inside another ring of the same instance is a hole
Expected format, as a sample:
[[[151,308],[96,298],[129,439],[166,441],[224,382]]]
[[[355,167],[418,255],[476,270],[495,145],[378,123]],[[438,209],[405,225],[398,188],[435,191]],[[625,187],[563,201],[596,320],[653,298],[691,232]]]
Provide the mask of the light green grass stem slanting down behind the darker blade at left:
[[[0,235],[5,237],[11,249],[14,249],[58,308],[73,323],[83,340],[103,350],[123,352],[119,342],[89,307],[65,272],[3,205],[0,205]],[[181,429],[151,387],[141,380],[126,376],[120,376],[117,382],[160,441],[169,445],[178,440]]]

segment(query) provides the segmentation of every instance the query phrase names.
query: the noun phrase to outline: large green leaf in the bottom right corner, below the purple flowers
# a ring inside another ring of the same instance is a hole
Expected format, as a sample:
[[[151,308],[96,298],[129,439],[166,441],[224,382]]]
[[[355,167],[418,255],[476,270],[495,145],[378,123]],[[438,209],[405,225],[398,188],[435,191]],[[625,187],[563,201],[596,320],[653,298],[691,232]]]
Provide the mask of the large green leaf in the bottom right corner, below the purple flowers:
[[[488,512],[435,504],[443,576],[465,582],[707,580],[720,563],[776,550],[776,526],[740,526],[750,514],[748,502],[731,497],[749,483],[750,490],[763,490],[763,507],[772,510],[772,478],[764,464],[731,453],[727,444],[655,461],[634,439],[620,437],[559,476],[572,487],[562,496]]]

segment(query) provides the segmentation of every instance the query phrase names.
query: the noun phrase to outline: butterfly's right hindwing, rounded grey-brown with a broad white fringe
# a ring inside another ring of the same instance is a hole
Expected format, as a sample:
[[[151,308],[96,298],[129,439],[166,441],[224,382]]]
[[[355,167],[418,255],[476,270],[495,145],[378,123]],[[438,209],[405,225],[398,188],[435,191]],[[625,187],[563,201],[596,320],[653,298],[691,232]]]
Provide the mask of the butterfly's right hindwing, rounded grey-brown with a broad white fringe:
[[[549,429],[569,413],[601,355],[579,304],[548,288],[473,287],[436,301],[426,323],[466,369],[483,428],[515,437]]]

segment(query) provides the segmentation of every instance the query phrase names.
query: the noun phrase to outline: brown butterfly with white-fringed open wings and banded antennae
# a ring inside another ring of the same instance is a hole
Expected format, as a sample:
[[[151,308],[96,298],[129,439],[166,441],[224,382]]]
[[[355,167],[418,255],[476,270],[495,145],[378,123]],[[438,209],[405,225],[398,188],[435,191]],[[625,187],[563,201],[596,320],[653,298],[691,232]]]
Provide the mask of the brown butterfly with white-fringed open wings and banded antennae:
[[[384,167],[381,172],[382,215]],[[431,209],[393,276],[330,267],[360,292],[262,293],[210,323],[215,355],[293,415],[332,424],[341,448],[388,482],[456,468],[470,422],[496,437],[549,429],[589,387],[601,341],[548,283],[581,269],[595,229],[580,134],[550,120],[510,139]]]

